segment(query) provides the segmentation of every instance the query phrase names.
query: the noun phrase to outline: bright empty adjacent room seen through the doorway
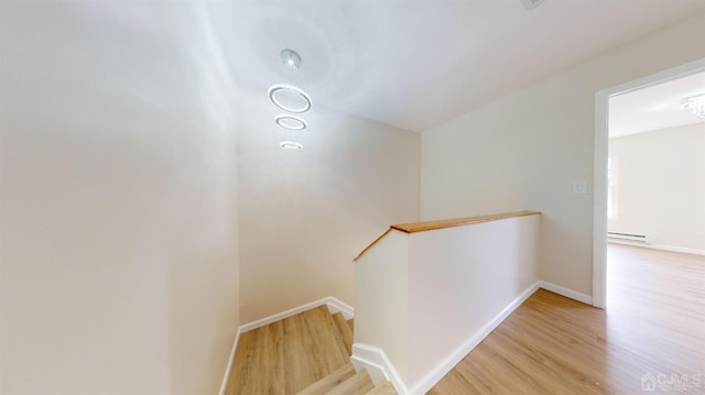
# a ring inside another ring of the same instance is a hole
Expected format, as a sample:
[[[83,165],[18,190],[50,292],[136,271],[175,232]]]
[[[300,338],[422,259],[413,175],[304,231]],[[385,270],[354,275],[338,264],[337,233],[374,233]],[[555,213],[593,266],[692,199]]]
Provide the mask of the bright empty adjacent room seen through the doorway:
[[[699,372],[705,349],[705,73],[609,100],[607,314],[611,337],[662,373]],[[649,330],[644,330],[649,328]]]

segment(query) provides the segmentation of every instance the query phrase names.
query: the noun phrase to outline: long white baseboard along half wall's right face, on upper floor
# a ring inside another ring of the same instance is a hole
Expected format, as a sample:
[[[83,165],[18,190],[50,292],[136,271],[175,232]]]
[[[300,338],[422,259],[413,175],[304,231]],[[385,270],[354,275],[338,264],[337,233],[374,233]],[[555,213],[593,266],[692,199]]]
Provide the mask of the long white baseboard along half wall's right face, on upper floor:
[[[509,315],[511,315],[517,307],[521,306],[524,300],[527,300],[536,289],[539,289],[539,284],[541,282],[536,282],[529,286],[529,288],[524,289],[512,303],[510,303],[507,307],[505,307],[495,318],[492,318],[487,325],[485,325],[480,330],[474,333],[469,339],[467,339],[463,344],[460,344],[454,352],[452,352],[443,362],[441,362],[434,370],[432,370],[429,374],[426,374],[423,378],[419,380],[417,383],[412,387],[410,395],[416,394],[425,394],[434,385],[436,385],[443,376],[445,376],[448,372],[455,367],[470,351],[473,351],[477,344],[479,344],[489,333],[495,330]],[[400,393],[401,394],[401,393]]]

